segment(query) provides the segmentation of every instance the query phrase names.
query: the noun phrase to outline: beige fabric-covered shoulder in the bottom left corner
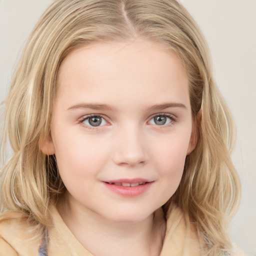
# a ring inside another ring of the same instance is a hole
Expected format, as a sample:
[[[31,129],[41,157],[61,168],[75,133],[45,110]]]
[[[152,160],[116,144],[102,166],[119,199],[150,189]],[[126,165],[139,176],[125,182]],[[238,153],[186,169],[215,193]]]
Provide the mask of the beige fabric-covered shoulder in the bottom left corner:
[[[0,256],[37,255],[39,241],[33,237],[25,217],[15,212],[0,214]]]

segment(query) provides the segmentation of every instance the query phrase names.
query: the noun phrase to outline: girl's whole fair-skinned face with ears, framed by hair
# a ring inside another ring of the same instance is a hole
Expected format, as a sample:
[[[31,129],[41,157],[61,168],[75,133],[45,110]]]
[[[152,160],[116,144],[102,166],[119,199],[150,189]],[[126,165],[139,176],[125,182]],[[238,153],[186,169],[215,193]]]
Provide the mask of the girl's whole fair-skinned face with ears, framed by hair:
[[[144,40],[94,43],[61,63],[51,138],[69,206],[112,221],[145,219],[175,192],[193,149],[188,78]]]

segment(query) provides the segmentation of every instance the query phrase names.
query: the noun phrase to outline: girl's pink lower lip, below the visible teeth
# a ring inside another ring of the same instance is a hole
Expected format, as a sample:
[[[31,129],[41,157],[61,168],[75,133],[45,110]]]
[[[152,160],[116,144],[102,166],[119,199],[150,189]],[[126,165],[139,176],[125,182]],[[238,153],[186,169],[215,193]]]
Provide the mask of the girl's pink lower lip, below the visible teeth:
[[[122,185],[115,185],[115,184],[109,184],[109,183],[103,182],[103,184],[109,190],[127,197],[135,197],[144,193],[146,190],[149,189],[152,183],[153,182],[147,182],[143,185],[138,185],[138,186],[122,186]]]

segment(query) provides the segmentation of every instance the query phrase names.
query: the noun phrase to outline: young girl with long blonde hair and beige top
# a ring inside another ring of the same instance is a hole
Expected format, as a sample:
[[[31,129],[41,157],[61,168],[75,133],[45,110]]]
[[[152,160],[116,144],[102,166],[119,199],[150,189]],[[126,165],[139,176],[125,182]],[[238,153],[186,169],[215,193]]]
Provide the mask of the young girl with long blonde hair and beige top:
[[[55,0],[5,105],[0,255],[241,255],[232,120],[176,0]]]

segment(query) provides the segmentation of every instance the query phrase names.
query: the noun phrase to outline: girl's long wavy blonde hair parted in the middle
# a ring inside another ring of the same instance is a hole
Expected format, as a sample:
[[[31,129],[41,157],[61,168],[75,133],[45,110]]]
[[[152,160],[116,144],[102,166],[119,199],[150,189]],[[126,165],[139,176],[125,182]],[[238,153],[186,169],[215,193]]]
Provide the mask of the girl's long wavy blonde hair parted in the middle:
[[[207,44],[176,0],[55,0],[33,29],[5,100],[2,150],[13,149],[1,171],[1,211],[50,225],[48,205],[65,188],[54,155],[39,141],[50,132],[58,67],[74,48],[94,41],[144,38],[175,51],[189,77],[198,139],[187,156],[178,189],[165,204],[178,204],[205,240],[205,255],[231,247],[226,233],[239,202],[240,184],[230,159],[234,128],[211,72]]]

